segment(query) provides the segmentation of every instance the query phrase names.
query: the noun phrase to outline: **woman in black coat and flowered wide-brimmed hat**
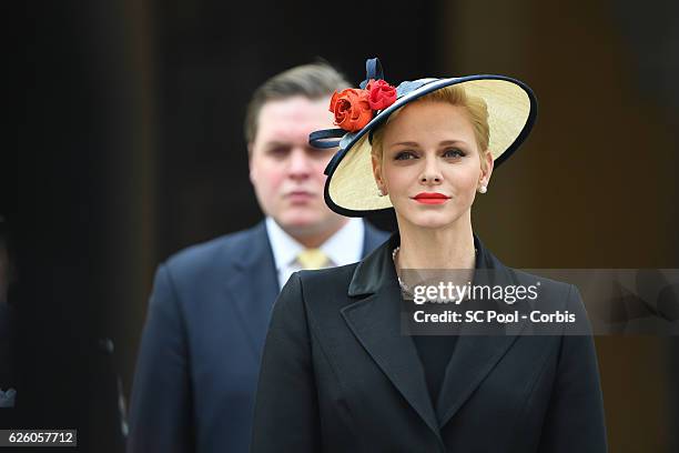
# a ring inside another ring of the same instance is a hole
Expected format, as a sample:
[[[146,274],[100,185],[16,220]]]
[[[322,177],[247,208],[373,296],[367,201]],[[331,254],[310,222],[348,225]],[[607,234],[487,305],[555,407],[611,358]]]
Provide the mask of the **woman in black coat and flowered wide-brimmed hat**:
[[[606,451],[591,336],[402,334],[405,269],[490,270],[503,288],[537,280],[534,304],[586,322],[574,286],[506,268],[473,234],[476,193],[535,121],[530,89],[499,76],[394,89],[374,59],[362,89],[334,95],[331,110],[341,129],[311,137],[321,147],[342,137],[327,204],[347,215],[393,207],[398,232],[357,264],[290,279],[264,349],[252,451]]]

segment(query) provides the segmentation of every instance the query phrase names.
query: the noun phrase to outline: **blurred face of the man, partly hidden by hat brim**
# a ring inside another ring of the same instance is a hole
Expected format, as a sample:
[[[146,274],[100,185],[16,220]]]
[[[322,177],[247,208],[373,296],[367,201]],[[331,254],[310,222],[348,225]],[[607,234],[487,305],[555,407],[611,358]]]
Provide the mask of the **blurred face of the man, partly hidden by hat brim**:
[[[288,234],[323,234],[345,221],[323,200],[323,170],[336,149],[308,145],[308,134],[333,128],[330,97],[294,97],[265,103],[250,144],[250,181],[260,207]]]

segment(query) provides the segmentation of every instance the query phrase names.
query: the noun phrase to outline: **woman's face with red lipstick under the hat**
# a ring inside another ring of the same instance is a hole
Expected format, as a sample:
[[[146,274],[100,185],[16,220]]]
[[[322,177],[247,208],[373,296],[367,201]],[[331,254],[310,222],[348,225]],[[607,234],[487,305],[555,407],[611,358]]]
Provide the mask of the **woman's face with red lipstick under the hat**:
[[[470,222],[476,190],[488,184],[493,158],[482,151],[463,107],[413,102],[385,125],[382,162],[373,158],[373,172],[399,225],[446,228]]]

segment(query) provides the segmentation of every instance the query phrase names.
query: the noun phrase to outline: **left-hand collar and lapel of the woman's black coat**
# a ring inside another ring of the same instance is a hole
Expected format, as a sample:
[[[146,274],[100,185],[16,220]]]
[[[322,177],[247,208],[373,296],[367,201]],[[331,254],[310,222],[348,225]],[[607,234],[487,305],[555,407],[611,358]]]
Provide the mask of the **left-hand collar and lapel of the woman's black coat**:
[[[342,309],[358,342],[408,404],[438,434],[419,356],[409,336],[401,333],[401,289],[391,258],[392,245],[379,246],[357,268],[349,295],[367,295]]]

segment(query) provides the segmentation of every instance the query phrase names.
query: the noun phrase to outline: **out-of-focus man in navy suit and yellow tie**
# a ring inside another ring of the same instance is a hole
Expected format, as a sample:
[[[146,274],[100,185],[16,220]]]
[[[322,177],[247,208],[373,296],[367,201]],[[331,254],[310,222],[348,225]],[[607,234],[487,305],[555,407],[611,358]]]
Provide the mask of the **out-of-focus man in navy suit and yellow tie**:
[[[348,87],[315,63],[255,91],[245,139],[266,218],[158,269],[132,389],[130,452],[246,452],[278,291],[297,270],[359,261],[386,239],[325,205],[323,170],[335,150],[307,142],[312,131],[333,128],[330,98]]]

